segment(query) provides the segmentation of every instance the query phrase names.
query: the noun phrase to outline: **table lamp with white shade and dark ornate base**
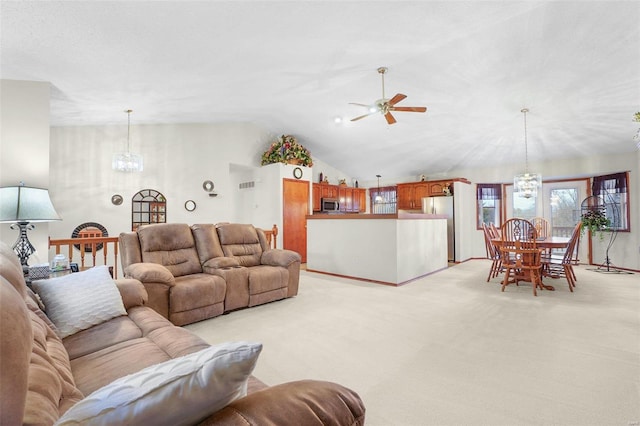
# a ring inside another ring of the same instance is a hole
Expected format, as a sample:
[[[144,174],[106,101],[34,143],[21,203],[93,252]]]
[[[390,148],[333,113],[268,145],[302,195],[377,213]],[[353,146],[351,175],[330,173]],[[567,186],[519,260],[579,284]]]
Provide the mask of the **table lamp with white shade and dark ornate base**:
[[[60,220],[60,216],[53,208],[46,189],[31,188],[24,184],[0,188],[0,223],[13,223],[11,229],[20,232],[13,251],[20,258],[24,272],[29,270],[29,256],[36,251],[27,237],[27,230],[34,228],[34,222],[54,220]]]

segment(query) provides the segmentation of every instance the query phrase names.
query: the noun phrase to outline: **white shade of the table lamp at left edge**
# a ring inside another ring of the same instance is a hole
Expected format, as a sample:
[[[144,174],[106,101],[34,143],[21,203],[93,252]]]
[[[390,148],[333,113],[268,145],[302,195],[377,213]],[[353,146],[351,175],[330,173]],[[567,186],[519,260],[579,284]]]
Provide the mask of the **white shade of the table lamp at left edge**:
[[[28,186],[0,188],[0,222],[51,222],[61,220],[49,191]]]

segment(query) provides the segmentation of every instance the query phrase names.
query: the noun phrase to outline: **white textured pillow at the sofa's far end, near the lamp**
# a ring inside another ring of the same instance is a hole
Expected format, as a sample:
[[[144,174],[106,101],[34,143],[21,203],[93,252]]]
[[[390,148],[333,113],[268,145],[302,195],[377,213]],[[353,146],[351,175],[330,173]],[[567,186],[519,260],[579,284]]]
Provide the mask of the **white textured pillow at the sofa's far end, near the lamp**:
[[[122,297],[108,266],[31,283],[60,338],[126,315]]]

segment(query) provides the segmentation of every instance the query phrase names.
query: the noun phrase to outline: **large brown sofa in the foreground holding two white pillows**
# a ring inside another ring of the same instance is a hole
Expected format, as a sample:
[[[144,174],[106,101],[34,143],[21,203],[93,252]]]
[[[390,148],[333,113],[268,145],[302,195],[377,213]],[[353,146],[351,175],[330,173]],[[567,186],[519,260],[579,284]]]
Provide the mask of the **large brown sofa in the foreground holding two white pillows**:
[[[127,315],[60,339],[26,286],[17,256],[0,242],[1,425],[51,425],[115,379],[209,346],[146,307],[140,282],[116,283]],[[335,383],[267,387],[251,376],[246,396],[198,424],[362,425],[364,413],[359,396]]]

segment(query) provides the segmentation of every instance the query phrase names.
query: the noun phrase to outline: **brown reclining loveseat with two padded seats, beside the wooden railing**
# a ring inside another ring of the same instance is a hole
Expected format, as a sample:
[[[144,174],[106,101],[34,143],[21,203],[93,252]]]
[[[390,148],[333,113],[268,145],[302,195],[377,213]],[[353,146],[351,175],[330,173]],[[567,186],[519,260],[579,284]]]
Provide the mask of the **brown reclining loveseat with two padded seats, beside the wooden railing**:
[[[271,249],[253,225],[146,225],[120,234],[120,257],[175,325],[298,294],[300,255]]]

